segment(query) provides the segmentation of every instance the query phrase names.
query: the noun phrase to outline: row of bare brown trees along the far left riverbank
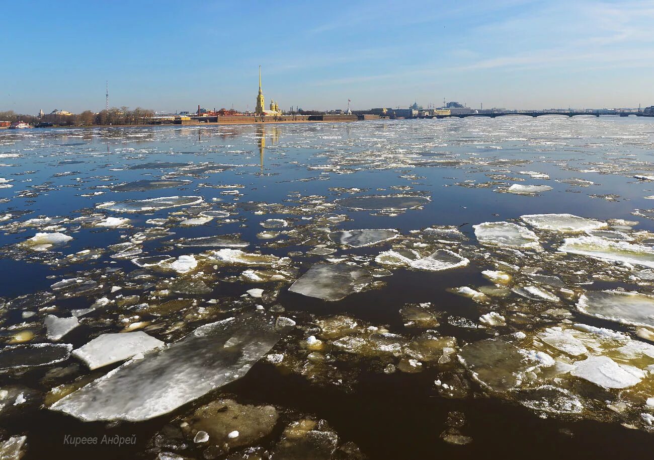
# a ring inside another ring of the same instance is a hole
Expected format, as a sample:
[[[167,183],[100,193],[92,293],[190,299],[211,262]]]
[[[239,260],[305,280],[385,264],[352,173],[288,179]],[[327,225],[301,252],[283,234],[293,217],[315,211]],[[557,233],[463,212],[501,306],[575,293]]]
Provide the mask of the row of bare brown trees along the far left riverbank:
[[[141,109],[141,107],[133,110],[129,110],[129,107],[111,107],[111,109],[103,110],[99,113],[87,110],[75,115],[48,113],[41,118],[34,115],[14,113],[14,111],[0,112],[0,120],[8,120],[10,122],[23,121],[29,124],[48,122],[58,126],[143,124],[148,122],[152,116],[154,116],[154,111]]]

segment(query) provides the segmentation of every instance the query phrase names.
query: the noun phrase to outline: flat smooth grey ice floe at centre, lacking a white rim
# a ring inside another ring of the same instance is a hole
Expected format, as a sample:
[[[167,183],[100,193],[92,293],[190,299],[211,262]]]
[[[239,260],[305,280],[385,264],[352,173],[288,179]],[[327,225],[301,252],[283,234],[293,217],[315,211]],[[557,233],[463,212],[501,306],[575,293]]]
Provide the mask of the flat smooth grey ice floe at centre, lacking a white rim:
[[[341,300],[371,282],[370,272],[360,266],[318,262],[293,283],[288,291],[323,300]]]

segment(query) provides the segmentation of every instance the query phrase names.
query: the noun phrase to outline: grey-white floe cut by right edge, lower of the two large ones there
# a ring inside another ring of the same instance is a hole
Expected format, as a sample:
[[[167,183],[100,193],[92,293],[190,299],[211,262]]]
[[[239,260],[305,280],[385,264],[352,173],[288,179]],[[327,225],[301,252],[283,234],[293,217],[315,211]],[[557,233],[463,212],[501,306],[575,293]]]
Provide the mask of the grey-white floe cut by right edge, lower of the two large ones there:
[[[654,297],[638,292],[587,291],[579,297],[577,310],[617,323],[654,326]]]

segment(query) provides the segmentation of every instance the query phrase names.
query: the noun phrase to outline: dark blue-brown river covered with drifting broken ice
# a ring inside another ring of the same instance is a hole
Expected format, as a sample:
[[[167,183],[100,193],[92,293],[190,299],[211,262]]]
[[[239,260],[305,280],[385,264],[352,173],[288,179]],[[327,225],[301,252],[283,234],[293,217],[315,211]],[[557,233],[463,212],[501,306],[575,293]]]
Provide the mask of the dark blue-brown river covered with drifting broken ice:
[[[653,154],[609,116],[0,131],[2,449],[646,455]]]

